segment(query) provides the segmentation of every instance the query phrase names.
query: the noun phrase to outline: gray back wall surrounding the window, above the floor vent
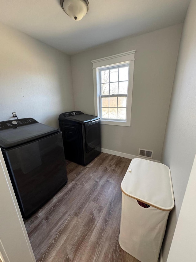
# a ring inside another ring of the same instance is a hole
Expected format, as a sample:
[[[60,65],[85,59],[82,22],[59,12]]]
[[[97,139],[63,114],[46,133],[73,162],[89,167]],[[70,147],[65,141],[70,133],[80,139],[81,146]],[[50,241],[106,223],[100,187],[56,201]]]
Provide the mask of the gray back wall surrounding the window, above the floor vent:
[[[102,148],[160,160],[182,24],[71,56],[75,110],[94,114],[91,60],[136,49],[131,127],[102,125]]]

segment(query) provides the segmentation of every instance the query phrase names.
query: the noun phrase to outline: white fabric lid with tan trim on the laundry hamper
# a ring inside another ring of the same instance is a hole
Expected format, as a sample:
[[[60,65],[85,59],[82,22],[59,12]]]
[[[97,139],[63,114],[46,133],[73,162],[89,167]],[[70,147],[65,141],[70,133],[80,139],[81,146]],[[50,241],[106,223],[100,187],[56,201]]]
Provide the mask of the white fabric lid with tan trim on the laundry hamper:
[[[158,209],[170,211],[174,207],[171,174],[164,164],[134,158],[123,178],[121,190]]]

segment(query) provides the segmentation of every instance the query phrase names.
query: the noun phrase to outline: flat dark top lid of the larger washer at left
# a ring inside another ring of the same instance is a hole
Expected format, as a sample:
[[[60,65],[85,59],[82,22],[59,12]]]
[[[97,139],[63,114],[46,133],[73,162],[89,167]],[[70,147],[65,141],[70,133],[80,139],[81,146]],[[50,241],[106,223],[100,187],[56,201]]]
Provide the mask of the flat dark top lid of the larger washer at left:
[[[17,119],[20,121],[21,119]],[[8,123],[8,121],[5,121]],[[0,122],[0,127],[2,123]],[[10,121],[9,121],[10,122]],[[3,148],[14,147],[50,134],[60,132],[59,129],[41,123],[29,123],[0,128],[0,146]]]

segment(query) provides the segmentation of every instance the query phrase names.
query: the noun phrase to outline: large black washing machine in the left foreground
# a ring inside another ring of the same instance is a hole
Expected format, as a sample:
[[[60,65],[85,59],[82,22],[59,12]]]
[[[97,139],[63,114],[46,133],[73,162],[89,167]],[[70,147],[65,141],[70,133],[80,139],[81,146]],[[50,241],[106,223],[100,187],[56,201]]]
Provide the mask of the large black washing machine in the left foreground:
[[[28,218],[67,182],[61,131],[33,118],[3,121],[0,147],[21,214]]]

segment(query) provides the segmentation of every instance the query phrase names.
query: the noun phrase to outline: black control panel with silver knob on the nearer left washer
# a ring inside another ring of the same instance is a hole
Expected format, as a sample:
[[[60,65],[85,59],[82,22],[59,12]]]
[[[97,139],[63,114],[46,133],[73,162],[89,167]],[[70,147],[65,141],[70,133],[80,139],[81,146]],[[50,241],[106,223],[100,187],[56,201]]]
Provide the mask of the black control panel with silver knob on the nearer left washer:
[[[21,118],[16,120],[8,120],[8,121],[2,121],[0,122],[0,131],[2,129],[8,129],[8,128],[17,128],[19,126],[29,125],[29,124],[35,124],[38,123],[33,118]]]

